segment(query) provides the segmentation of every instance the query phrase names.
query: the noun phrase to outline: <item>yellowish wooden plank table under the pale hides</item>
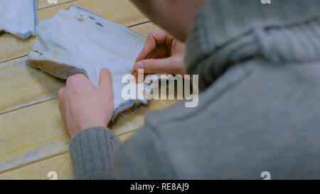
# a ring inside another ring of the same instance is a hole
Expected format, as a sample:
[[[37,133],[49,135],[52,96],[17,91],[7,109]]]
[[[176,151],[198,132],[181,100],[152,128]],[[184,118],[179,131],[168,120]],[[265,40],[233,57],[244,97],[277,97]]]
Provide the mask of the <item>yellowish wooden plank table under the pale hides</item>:
[[[81,6],[146,36],[158,27],[129,0],[38,0],[38,22],[52,18],[58,9]],[[65,85],[44,72],[26,65],[26,55],[36,37],[26,41],[5,33],[0,36],[0,179],[72,179],[68,144],[58,110],[58,90]],[[124,141],[144,122],[147,109],[166,107],[168,102],[151,103],[124,116],[112,130]]]

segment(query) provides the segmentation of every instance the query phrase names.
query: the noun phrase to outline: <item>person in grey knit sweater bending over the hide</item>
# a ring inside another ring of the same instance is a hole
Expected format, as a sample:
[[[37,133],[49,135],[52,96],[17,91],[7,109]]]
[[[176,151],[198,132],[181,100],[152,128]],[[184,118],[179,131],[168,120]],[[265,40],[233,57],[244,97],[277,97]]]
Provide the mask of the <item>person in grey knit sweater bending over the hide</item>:
[[[132,73],[199,75],[199,104],[150,112],[119,144],[110,72],[99,88],[70,77],[59,99],[75,178],[320,178],[318,0],[133,2],[172,36],[151,33]]]

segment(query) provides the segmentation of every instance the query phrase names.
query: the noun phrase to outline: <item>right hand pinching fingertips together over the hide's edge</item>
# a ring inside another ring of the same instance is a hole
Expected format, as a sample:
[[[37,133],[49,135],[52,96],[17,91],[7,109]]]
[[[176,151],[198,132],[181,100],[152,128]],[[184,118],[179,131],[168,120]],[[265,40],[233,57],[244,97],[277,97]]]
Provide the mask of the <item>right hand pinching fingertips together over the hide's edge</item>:
[[[186,45],[164,30],[149,33],[131,74],[138,80],[138,69],[145,74],[166,72],[184,75],[183,59]]]

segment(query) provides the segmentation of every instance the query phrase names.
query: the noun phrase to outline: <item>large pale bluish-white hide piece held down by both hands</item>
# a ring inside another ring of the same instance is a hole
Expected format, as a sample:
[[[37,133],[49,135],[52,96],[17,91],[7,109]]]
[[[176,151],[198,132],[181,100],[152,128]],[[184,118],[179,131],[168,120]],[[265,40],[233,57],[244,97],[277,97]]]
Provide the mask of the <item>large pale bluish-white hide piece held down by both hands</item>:
[[[112,73],[114,117],[146,100],[124,99],[122,77],[128,75],[142,50],[145,38],[134,31],[92,14],[78,6],[60,9],[51,19],[41,21],[38,38],[28,63],[63,80],[84,73],[98,87],[103,68]],[[135,84],[134,84],[135,85]]]

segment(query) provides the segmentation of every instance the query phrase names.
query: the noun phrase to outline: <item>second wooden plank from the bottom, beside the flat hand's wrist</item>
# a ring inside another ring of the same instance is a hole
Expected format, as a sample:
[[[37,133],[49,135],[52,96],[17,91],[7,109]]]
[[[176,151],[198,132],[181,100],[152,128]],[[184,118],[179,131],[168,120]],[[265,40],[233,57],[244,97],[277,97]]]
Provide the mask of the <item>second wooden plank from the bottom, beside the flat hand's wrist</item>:
[[[148,109],[164,108],[170,103],[155,101],[149,108],[124,115],[110,129],[118,136],[135,131],[144,123]],[[0,173],[68,151],[69,141],[56,98],[1,114]]]

